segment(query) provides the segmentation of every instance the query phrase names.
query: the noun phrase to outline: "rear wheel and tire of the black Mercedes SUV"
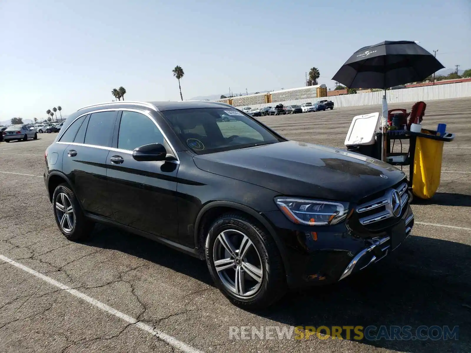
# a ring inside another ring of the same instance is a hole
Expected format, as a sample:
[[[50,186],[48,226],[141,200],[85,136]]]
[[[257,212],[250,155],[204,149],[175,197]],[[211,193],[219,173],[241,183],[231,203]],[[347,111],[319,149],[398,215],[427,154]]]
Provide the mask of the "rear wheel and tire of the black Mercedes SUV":
[[[67,184],[60,184],[52,196],[54,216],[59,230],[70,241],[79,241],[88,237],[93,229],[93,222],[83,215],[79,201]]]

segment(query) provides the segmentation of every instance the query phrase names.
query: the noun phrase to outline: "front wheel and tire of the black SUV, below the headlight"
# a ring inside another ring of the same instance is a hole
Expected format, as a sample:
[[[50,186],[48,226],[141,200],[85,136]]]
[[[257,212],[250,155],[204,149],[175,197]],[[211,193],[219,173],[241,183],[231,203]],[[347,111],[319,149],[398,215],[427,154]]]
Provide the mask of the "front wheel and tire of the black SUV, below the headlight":
[[[213,281],[234,305],[261,309],[283,297],[286,276],[275,241],[245,215],[216,219],[205,250]]]

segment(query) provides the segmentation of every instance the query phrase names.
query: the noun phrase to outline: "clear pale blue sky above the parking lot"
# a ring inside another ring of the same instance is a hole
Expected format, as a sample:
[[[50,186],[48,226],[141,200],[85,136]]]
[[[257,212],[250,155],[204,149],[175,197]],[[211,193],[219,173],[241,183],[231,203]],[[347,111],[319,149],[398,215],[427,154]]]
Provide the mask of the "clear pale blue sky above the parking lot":
[[[470,0],[0,0],[0,121],[111,100],[179,100],[319,83],[357,49],[419,40],[471,68]]]

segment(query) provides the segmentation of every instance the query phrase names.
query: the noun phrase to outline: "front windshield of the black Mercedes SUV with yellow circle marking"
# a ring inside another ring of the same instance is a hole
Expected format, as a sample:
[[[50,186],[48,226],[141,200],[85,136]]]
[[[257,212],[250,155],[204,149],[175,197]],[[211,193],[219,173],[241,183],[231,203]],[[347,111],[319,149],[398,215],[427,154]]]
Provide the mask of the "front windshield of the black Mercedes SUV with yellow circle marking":
[[[257,120],[229,107],[179,109],[162,113],[182,143],[197,154],[284,141]]]

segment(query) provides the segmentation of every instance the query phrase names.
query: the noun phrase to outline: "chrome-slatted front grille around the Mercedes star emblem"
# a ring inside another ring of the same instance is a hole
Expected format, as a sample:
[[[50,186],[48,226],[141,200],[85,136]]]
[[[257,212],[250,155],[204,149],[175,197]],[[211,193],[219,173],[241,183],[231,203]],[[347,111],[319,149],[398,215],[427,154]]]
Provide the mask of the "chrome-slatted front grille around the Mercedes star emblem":
[[[400,213],[394,215],[393,205],[391,199],[393,193],[397,191],[400,198]],[[376,194],[375,196],[377,196]],[[381,192],[381,196],[377,196],[373,200],[368,200],[357,206],[358,220],[361,225],[368,227],[372,226],[376,228],[376,223],[388,220],[389,218],[402,217],[404,212],[407,211],[407,204],[409,201],[409,195],[407,193],[407,183],[401,182],[398,185],[394,185]],[[389,223],[389,222],[388,222]],[[379,225],[379,224],[377,224]]]

